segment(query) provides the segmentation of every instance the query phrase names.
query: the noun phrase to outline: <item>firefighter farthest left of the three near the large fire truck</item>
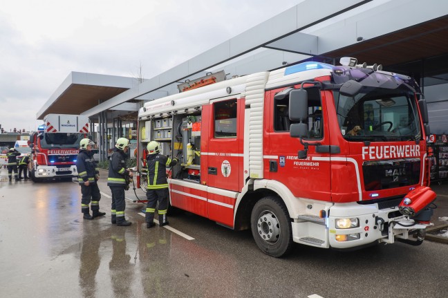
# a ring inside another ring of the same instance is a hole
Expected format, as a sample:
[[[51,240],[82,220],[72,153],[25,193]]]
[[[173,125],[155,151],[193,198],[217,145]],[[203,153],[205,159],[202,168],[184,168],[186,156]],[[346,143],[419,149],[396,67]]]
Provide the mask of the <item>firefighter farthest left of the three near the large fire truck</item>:
[[[78,172],[78,182],[81,185],[81,212],[84,214],[82,218],[93,219],[95,217],[104,216],[106,213],[100,212],[100,189],[98,188],[97,180],[100,179],[100,171],[96,167],[95,159],[93,158],[93,145],[95,143],[84,138],[80,142],[80,153],[76,158],[76,170]],[[91,204],[92,215],[88,204]]]

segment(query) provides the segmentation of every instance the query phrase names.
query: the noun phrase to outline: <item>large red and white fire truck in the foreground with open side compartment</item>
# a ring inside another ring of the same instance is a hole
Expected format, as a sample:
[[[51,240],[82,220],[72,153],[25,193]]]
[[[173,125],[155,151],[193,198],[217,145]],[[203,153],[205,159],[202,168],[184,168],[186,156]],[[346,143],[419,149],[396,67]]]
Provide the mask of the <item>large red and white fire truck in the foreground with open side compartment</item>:
[[[234,230],[266,254],[292,243],[418,245],[431,225],[427,104],[382,66],[305,62],[147,102],[138,114],[138,185],[147,142],[178,158],[170,204]]]

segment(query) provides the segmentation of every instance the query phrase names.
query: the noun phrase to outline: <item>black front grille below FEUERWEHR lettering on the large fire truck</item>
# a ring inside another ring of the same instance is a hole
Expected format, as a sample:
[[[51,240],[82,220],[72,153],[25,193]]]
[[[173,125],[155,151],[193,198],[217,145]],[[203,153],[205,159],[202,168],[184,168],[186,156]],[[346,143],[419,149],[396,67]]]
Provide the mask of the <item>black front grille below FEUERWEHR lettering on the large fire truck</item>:
[[[362,164],[362,171],[368,192],[415,185],[420,181],[420,159],[368,161]]]

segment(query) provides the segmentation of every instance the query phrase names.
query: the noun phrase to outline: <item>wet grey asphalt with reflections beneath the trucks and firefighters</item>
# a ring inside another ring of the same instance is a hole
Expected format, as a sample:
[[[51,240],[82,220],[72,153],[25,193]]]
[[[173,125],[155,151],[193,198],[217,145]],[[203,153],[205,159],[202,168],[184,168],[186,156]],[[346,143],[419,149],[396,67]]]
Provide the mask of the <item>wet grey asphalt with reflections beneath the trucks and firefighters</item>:
[[[142,203],[127,203],[133,225],[111,225],[105,172],[106,216],[93,221],[82,219],[76,183],[9,183],[6,175],[1,169],[0,297],[447,297],[448,245],[441,243],[356,252],[295,245],[275,259],[250,231],[194,214],[169,217],[183,236],[147,229]],[[448,216],[448,187],[433,188],[440,206],[434,222],[446,224],[439,218]],[[132,189],[127,197],[135,198]]]

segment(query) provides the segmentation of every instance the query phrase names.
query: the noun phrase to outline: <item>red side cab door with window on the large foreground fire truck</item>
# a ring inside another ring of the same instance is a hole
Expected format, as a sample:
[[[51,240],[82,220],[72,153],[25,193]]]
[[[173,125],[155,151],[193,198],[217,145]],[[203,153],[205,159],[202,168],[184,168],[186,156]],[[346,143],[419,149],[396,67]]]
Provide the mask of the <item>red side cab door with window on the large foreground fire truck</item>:
[[[300,86],[295,86],[299,89]],[[288,88],[286,88],[288,89]],[[265,96],[265,137],[263,144],[264,176],[286,185],[300,198],[331,201],[330,153],[319,153],[308,145],[306,158],[299,158],[304,145],[290,136],[289,95],[277,95],[284,89],[269,91]],[[276,96],[277,95],[277,96]],[[324,93],[318,88],[308,89],[308,136],[303,142],[330,145]]]

